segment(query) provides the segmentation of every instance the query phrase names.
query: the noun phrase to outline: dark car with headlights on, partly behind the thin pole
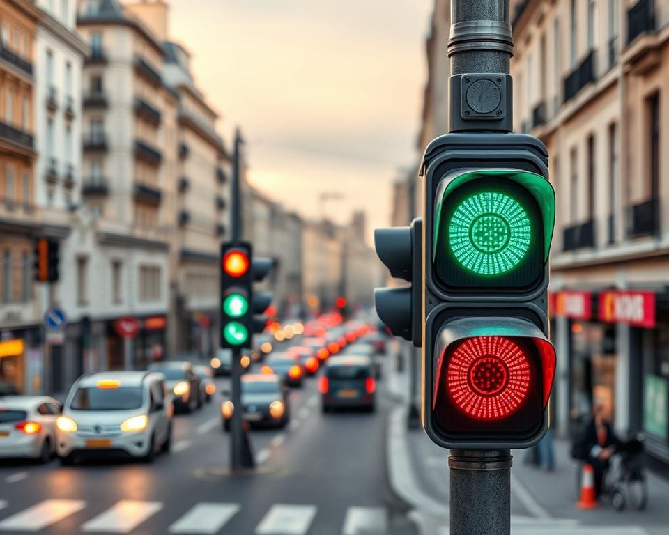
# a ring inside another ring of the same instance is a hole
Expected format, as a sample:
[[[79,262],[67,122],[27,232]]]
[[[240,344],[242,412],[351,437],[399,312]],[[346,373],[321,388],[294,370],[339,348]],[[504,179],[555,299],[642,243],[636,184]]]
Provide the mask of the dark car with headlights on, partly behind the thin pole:
[[[243,417],[252,426],[285,427],[290,419],[288,394],[278,375],[249,373],[242,378]],[[234,411],[231,401],[221,405],[221,419],[229,431]]]

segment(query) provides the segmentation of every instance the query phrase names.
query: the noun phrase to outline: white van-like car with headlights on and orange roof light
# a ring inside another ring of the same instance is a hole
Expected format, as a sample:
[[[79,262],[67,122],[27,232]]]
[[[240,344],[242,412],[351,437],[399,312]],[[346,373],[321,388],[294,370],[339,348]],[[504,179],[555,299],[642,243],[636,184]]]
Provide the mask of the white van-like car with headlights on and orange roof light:
[[[169,451],[172,402],[165,378],[152,371],[106,371],[79,378],[56,420],[63,465],[78,458],[153,460]]]

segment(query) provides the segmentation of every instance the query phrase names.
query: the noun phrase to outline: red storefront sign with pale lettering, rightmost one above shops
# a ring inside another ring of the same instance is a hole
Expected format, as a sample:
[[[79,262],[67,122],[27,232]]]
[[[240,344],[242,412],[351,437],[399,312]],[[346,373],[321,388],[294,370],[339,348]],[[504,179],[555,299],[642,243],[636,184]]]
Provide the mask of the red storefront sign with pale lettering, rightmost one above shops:
[[[626,323],[655,327],[655,294],[610,290],[599,294],[599,319],[605,323]]]

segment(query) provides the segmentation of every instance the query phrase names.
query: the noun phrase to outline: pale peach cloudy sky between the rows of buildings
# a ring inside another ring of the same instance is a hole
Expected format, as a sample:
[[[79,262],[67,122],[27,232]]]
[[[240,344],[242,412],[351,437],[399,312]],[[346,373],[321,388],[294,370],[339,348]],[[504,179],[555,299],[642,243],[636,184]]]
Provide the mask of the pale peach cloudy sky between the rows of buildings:
[[[241,125],[250,180],[307,217],[390,221],[392,180],[417,159],[432,0],[171,0],[198,86]]]

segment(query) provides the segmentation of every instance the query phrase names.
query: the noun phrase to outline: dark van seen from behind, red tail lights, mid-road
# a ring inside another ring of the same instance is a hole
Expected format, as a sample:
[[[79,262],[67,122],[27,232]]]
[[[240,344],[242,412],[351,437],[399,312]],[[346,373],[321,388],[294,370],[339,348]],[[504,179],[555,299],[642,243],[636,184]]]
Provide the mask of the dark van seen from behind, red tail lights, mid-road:
[[[318,382],[323,412],[335,408],[364,408],[374,411],[376,380],[369,357],[332,357]]]

